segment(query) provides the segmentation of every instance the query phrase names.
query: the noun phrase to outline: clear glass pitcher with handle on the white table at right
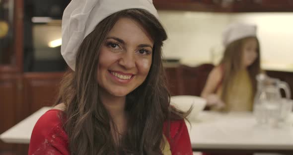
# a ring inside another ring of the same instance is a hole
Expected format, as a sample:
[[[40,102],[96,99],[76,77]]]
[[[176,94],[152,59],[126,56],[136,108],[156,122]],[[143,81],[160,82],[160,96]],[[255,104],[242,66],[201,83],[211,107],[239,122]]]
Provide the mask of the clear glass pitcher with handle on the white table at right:
[[[291,98],[291,90],[287,82],[278,78],[270,78],[265,74],[259,74],[257,79],[257,92],[254,98],[253,112],[258,124],[270,124],[276,126],[285,119],[284,100],[281,89],[285,90],[286,99]],[[287,110],[288,111],[288,110]],[[290,112],[290,111],[289,111]]]

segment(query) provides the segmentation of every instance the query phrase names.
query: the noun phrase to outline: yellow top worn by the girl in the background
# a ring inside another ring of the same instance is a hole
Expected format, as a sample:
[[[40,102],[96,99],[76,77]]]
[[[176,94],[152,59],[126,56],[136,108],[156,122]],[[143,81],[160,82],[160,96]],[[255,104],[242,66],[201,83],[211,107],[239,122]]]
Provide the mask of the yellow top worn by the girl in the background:
[[[221,96],[222,85],[217,90]],[[252,83],[247,70],[239,71],[229,82],[226,95],[226,111],[252,111]]]

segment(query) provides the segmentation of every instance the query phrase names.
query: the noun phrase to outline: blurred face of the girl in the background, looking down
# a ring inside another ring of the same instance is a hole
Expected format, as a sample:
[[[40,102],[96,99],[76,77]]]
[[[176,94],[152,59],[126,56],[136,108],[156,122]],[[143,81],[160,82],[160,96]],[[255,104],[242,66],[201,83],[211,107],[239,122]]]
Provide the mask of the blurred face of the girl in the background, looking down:
[[[244,67],[248,67],[256,60],[258,57],[258,43],[255,38],[248,38],[243,45],[243,56],[242,64]]]

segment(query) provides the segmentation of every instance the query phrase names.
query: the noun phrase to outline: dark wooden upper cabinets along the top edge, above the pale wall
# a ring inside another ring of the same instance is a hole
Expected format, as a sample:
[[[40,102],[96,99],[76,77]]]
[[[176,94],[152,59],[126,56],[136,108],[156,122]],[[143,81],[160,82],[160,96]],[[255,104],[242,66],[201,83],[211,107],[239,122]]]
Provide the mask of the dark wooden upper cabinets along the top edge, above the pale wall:
[[[293,0],[153,0],[157,9],[210,12],[292,12]]]

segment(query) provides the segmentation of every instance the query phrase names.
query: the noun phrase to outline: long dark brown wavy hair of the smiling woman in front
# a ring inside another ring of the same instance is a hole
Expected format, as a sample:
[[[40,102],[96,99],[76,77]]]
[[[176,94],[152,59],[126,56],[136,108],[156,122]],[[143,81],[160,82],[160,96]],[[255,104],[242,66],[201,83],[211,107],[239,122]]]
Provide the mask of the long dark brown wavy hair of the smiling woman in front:
[[[152,64],[146,80],[126,96],[127,132],[114,143],[111,119],[99,99],[97,66],[99,49],[114,24],[121,17],[138,21],[154,40]],[[75,72],[68,70],[61,82],[58,103],[72,155],[161,155],[164,122],[183,119],[183,113],[169,105],[170,95],[162,66],[161,47],[167,39],[157,18],[144,9],[127,9],[102,20],[80,45]]]

